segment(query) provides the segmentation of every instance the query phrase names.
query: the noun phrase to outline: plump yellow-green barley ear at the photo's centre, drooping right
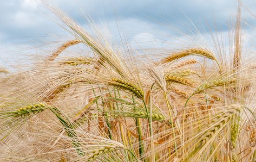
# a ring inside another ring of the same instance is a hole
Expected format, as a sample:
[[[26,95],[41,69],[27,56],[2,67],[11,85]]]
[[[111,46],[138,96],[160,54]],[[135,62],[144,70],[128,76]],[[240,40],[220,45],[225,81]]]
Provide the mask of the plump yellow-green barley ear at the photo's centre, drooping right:
[[[128,83],[117,78],[112,78],[111,85],[115,86],[117,89],[124,89],[130,91],[131,93],[135,94],[139,99],[144,99],[143,90],[132,83]]]

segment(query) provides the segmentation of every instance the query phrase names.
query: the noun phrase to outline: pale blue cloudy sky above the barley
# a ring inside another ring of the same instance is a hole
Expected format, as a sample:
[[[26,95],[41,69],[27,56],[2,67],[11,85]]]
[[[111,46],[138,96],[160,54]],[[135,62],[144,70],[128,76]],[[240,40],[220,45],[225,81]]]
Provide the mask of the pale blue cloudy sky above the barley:
[[[149,37],[171,41],[173,37],[227,33],[237,9],[237,0],[52,1],[86,30],[89,26],[83,15],[88,13],[106,35],[122,31],[130,43]],[[255,33],[256,0],[242,2],[244,29]],[[71,37],[51,16],[37,0],[1,0],[0,59],[10,49]]]

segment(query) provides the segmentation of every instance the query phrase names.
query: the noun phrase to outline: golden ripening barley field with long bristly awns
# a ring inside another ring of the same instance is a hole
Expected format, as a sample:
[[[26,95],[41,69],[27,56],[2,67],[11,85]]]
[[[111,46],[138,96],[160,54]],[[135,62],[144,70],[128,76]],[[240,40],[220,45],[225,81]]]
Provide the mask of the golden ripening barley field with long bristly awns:
[[[256,51],[242,4],[228,50],[214,37],[120,49],[90,16],[92,32],[43,4],[72,39],[18,70],[1,66],[1,162],[256,162]]]

